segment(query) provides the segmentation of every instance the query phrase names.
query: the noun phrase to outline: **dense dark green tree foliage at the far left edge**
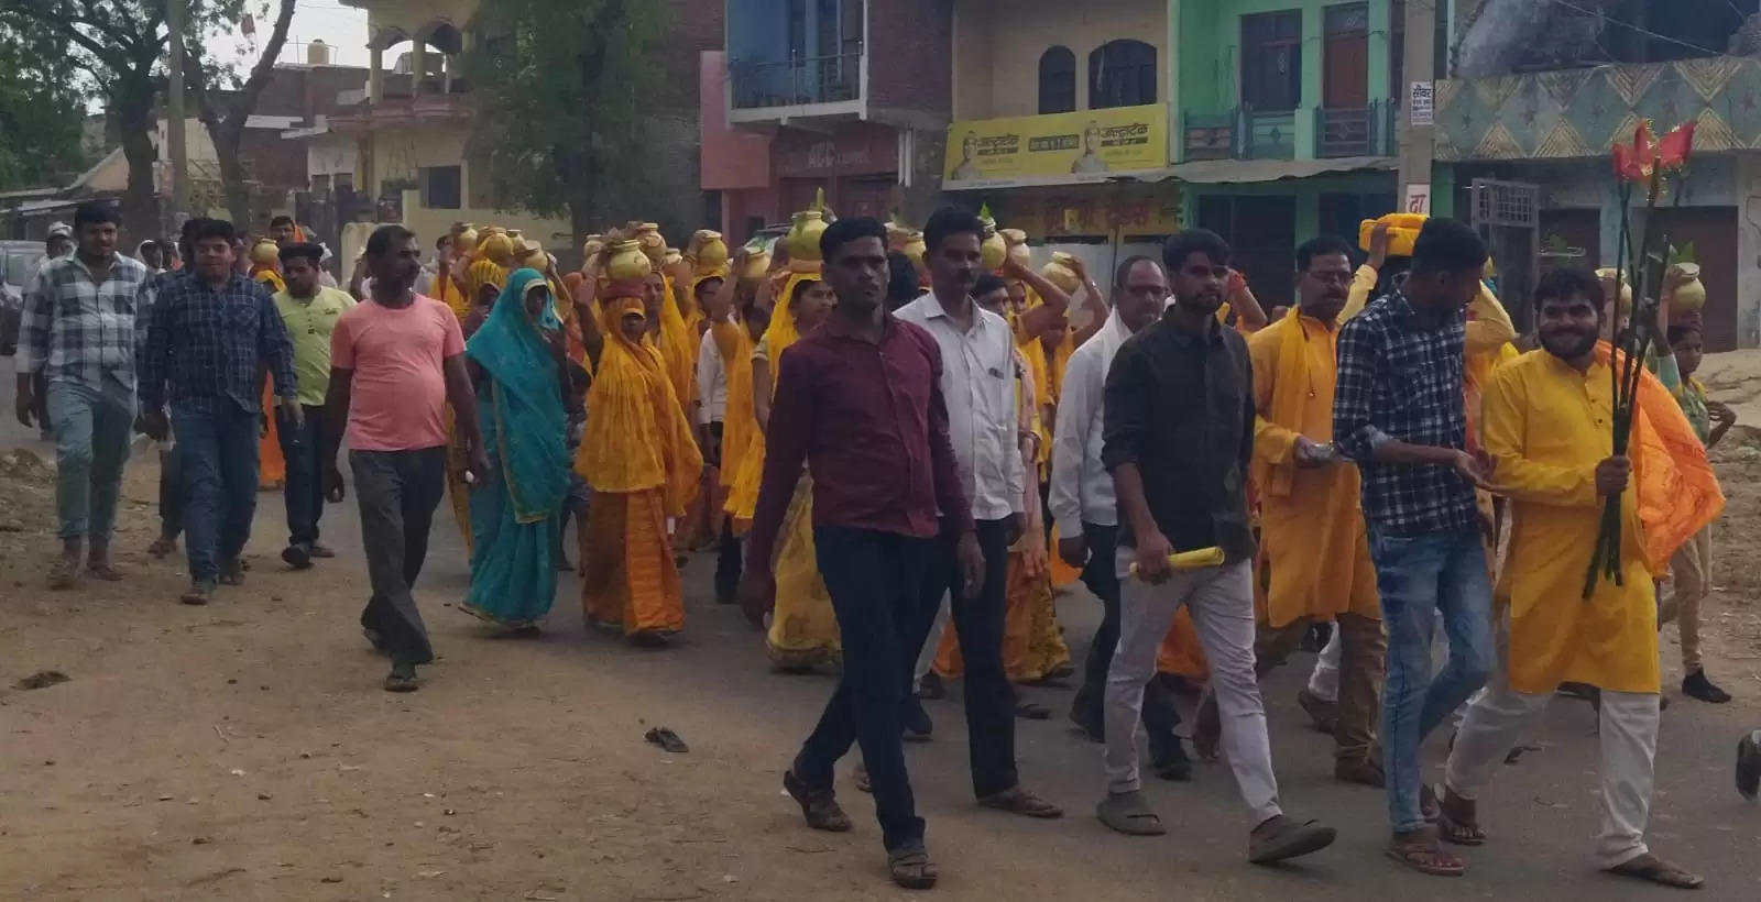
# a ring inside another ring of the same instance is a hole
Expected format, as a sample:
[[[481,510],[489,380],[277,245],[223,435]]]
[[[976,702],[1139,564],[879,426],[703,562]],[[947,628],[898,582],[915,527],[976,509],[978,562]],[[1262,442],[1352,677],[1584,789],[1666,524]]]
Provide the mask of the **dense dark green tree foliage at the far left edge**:
[[[65,41],[0,19],[0,190],[65,183],[81,167],[77,76]]]

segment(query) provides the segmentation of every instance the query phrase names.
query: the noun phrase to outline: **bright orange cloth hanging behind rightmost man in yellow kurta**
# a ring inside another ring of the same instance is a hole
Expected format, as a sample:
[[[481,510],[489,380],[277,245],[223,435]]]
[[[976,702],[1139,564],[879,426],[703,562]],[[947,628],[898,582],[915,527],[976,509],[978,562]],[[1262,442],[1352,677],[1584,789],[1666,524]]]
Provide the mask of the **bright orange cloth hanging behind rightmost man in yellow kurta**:
[[[1595,359],[1617,366],[1620,358],[1608,342],[1597,342]],[[1645,567],[1661,574],[1676,550],[1719,518],[1724,492],[1719,490],[1719,477],[1706,462],[1706,447],[1682,414],[1682,405],[1645,368],[1639,370],[1627,456],[1632,460],[1639,525],[1645,530]]]

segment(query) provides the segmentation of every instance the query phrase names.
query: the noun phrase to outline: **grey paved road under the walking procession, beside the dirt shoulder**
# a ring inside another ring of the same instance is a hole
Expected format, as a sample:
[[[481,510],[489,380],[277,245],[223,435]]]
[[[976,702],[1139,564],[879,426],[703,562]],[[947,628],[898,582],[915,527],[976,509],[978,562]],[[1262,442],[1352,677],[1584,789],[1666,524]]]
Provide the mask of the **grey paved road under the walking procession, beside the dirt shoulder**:
[[[0,388],[4,410],[11,412],[11,379]],[[0,447],[46,446],[26,435],[11,416],[0,418]],[[282,506],[275,493],[259,495],[259,551],[280,536]],[[352,500],[326,511],[326,541],[342,551],[329,567],[359,567],[359,527]],[[460,597],[467,581],[465,555],[449,511],[435,523],[428,569],[421,595],[437,629],[437,647],[461,648],[475,627],[456,611],[440,611],[438,601]],[[259,558],[261,560],[261,558]],[[829,682],[815,678],[773,676],[764,666],[759,638],[738,613],[710,603],[710,557],[699,557],[687,569],[690,627],[674,652],[664,657],[630,657],[625,666],[639,668],[643,680],[692,703],[713,703],[741,729],[770,724],[773,742],[770,761],[755,766],[773,770],[792,752],[799,729],[822,705]],[[365,581],[365,580],[363,580]],[[579,606],[572,578],[558,590],[551,631],[530,647],[534,655],[574,655],[581,645],[597,648],[599,638],[583,638]],[[1060,618],[1067,627],[1072,652],[1081,655],[1097,618],[1097,604],[1087,595],[1060,599]],[[349,617],[349,613],[336,613]],[[595,652],[597,654],[597,652]],[[611,650],[606,650],[611,654]],[[1673,669],[1673,655],[1666,655]],[[435,668],[442,682],[470,680],[454,657],[449,668]],[[618,659],[622,661],[622,657]],[[1178,893],[1187,898],[1275,900],[1289,897],[1361,900],[1379,891],[1388,897],[1425,898],[1560,898],[1567,893],[1594,893],[1599,898],[1659,898],[1666,891],[1625,884],[1594,872],[1590,851],[1599,824],[1597,759],[1594,717],[1576,703],[1558,703],[1534,736],[1541,750],[1506,768],[1485,802],[1485,817],[1495,830],[1495,842],[1470,854],[1474,872],[1463,881],[1439,881],[1411,876],[1382,860],[1386,830],[1382,795],[1347,787],[1331,780],[1330,742],[1305,726],[1294,705],[1294,691],[1312,659],[1296,661],[1266,682],[1271,742],[1278,765],[1284,803],[1293,814],[1324,817],[1340,828],[1340,844],[1301,867],[1252,869],[1242,863],[1243,816],[1229,772],[1224,766],[1199,766],[1192,784],[1153,784],[1152,802],[1169,823],[1171,837],[1162,840],[1127,840],[1101,828],[1092,817],[1092,803],[1101,791],[1099,749],[1072,736],[1062,719],[1046,724],[1023,722],[1018,729],[1018,756],[1023,779],[1048,798],[1069,809],[1062,824],[1032,824],[977,812],[965,802],[965,729],[956,701],[932,703],[937,738],[910,750],[912,777],[930,817],[932,842],[946,872],[956,872],[962,847],[990,849],[1002,842],[1021,861],[1020,874],[1007,869],[986,874],[981,884],[995,893],[1021,897],[1037,886],[1032,874],[1055,861],[1062,874],[1079,874],[1095,898],[1150,898]],[[1752,671],[1752,662],[1745,662]],[[1712,708],[1676,699],[1666,713],[1657,756],[1657,800],[1652,819],[1654,846],[1705,872],[1712,888],[1703,898],[1761,898],[1761,809],[1742,803],[1731,791],[1731,747],[1743,728],[1757,717],[1756,680],[1738,678],[1738,666],[1728,671],[1743,698],[1736,705]],[[1666,676],[1668,678],[1668,676]],[[446,689],[442,689],[446,691]],[[1023,691],[1062,713],[1069,689],[1034,687]],[[428,696],[428,692],[423,692]],[[421,699],[417,699],[421,701]],[[713,722],[713,719],[711,719]],[[674,721],[678,724],[678,721]],[[717,742],[713,729],[696,726],[694,745]],[[1442,743],[1432,743],[1433,763]],[[697,758],[697,756],[692,756]],[[1435,770],[1432,770],[1435,773]],[[778,816],[785,802],[778,800]],[[872,833],[866,803],[852,803],[859,830]],[[872,839],[872,837],[870,837]],[[866,846],[863,846],[866,849]],[[976,851],[974,854],[990,854]],[[852,861],[866,867],[870,861]],[[965,874],[965,883],[979,877]],[[960,895],[960,898],[976,898]]]

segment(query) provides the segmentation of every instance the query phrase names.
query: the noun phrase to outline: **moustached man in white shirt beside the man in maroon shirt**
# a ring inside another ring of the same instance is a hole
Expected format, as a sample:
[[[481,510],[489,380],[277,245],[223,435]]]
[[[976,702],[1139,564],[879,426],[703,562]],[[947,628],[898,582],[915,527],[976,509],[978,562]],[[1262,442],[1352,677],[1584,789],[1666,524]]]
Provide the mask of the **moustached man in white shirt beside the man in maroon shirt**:
[[[965,659],[972,789],[986,807],[1028,817],[1058,817],[1064,812],[1021,787],[1016,775],[1014,689],[1002,664],[1009,546],[1023,529],[1021,499],[1027,492],[1027,469],[1016,449],[1014,333],[1000,315],[972,303],[972,285],[981,271],[979,243],[984,240],[979,218],[944,208],[930,217],[923,234],[930,292],[895,315],[928,331],[942,352],[939,377],[947,403],[947,435],[984,551],[983,585],[976,592],[954,592],[951,604]],[[914,620],[907,620],[905,648],[912,659],[928,640],[935,611],[954,585],[956,573],[954,536],[944,530],[925,580],[923,608]],[[912,661],[902,666],[910,668]],[[907,699],[907,706],[916,708],[916,699]]]

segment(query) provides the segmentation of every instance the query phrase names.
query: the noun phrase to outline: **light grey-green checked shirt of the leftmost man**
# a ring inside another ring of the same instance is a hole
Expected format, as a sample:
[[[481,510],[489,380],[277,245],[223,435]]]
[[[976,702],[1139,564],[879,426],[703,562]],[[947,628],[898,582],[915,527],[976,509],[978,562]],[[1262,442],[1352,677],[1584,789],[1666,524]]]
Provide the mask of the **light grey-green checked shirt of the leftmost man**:
[[[122,254],[102,280],[77,254],[44,262],[25,292],[18,372],[134,389],[134,303],[146,275],[141,261]]]

